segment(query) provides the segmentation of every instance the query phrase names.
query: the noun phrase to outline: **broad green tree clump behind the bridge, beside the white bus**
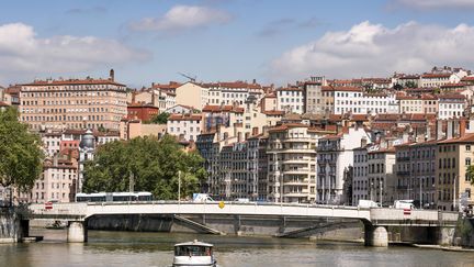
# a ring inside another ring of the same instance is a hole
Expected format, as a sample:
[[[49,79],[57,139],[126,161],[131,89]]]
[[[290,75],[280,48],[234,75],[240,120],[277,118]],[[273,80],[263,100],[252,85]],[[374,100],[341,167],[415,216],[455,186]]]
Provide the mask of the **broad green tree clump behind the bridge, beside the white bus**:
[[[128,191],[131,174],[135,191],[150,191],[157,199],[178,197],[178,173],[181,171],[181,196],[200,191],[207,174],[204,159],[196,152],[185,153],[177,141],[165,135],[112,142],[98,148],[93,160],[86,163],[83,191]]]

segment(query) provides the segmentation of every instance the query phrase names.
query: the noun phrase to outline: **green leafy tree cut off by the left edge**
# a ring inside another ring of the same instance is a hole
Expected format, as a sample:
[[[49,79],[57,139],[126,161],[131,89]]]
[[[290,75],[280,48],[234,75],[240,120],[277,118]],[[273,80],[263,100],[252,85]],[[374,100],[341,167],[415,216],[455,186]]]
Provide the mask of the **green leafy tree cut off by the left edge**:
[[[18,121],[16,110],[0,111],[0,185],[29,191],[42,173],[43,158],[41,138]]]

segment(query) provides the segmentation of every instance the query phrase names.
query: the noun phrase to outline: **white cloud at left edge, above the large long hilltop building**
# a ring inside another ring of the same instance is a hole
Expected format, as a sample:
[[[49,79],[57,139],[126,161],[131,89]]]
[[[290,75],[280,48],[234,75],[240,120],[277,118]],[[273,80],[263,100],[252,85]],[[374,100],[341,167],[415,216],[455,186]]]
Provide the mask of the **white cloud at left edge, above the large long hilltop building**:
[[[70,35],[40,38],[23,23],[0,25],[0,80],[23,76],[90,71],[114,64],[147,59],[148,53],[117,41]]]

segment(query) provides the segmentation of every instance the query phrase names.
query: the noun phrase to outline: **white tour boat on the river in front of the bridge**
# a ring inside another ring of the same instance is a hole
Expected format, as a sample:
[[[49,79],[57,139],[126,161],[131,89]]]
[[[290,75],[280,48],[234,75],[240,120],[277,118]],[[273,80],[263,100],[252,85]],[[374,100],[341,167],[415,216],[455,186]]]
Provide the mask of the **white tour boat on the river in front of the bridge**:
[[[216,260],[213,255],[213,245],[198,242],[185,242],[174,245],[173,267],[216,267]]]

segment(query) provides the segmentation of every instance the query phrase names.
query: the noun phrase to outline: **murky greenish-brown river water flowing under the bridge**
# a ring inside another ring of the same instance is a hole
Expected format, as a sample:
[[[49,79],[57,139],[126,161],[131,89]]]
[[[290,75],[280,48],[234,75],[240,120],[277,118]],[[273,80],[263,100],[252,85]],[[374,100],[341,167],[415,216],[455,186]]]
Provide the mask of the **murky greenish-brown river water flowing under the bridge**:
[[[198,234],[89,231],[86,244],[66,243],[63,230],[32,230],[45,241],[0,244],[0,266],[169,266],[176,243],[214,244],[219,266],[474,266],[474,253],[364,247],[359,243]]]

